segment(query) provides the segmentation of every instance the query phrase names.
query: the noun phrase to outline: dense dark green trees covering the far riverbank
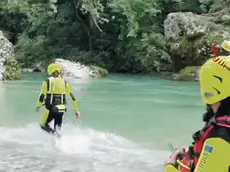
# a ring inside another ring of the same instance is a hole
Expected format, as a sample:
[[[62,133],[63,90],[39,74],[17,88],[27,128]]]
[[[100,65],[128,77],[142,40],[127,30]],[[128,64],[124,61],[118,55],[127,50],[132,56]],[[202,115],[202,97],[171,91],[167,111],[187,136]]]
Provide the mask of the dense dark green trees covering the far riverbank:
[[[214,0],[217,1],[217,0]],[[212,0],[1,0],[0,30],[13,35],[22,67],[54,58],[115,72],[171,70],[163,20],[208,12]]]

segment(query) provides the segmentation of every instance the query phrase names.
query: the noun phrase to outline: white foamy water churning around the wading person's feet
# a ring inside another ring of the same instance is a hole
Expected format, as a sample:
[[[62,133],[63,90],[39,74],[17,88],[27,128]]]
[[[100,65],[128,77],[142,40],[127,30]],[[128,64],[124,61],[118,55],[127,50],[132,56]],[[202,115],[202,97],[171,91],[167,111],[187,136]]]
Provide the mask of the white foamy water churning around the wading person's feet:
[[[160,172],[169,155],[113,133],[70,124],[63,125],[61,139],[38,124],[0,127],[0,132],[0,171],[7,172]]]

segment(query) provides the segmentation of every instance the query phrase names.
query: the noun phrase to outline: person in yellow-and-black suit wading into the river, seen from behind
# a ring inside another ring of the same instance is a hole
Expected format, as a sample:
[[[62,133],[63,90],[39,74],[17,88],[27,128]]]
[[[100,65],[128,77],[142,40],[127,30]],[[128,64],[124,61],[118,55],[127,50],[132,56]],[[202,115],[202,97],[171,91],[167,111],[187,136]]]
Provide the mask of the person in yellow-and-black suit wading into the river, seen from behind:
[[[60,76],[61,67],[55,63],[51,63],[48,66],[47,72],[49,78],[42,84],[36,111],[45,105],[46,109],[40,126],[48,133],[60,136],[57,130],[61,129],[62,116],[67,111],[66,95],[71,97],[77,117],[80,117],[80,112],[69,83]],[[49,125],[52,120],[54,120],[54,128],[51,128]]]

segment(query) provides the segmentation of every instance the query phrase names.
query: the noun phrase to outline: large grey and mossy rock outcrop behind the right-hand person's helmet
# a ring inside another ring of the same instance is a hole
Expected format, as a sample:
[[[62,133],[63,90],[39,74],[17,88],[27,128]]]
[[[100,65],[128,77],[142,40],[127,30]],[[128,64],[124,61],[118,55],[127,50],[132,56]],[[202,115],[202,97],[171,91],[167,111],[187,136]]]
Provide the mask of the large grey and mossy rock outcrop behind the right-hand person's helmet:
[[[230,40],[230,29],[226,26],[229,16],[227,10],[208,15],[177,12],[167,16],[164,31],[172,59],[172,79],[198,79],[199,66],[211,58],[210,46],[216,43],[220,48],[224,40]]]

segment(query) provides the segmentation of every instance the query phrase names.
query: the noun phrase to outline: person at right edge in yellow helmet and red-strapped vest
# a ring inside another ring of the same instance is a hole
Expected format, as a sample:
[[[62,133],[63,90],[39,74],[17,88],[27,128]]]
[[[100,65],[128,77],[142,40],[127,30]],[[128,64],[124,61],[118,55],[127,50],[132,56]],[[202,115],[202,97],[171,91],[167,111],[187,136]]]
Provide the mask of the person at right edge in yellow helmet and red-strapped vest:
[[[205,126],[193,135],[192,146],[175,150],[165,172],[230,172],[230,57],[219,58],[222,65],[209,59],[200,69]]]

